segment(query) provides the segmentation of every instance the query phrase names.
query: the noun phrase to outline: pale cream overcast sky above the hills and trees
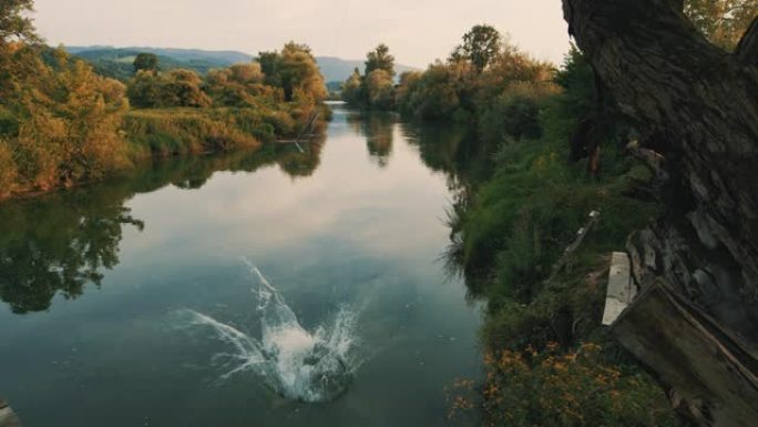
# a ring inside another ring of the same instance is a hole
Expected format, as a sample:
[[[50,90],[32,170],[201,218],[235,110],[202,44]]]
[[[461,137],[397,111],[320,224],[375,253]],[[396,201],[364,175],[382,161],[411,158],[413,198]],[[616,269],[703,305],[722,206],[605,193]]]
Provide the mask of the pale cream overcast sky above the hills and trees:
[[[561,0],[35,0],[50,44],[197,48],[257,53],[295,40],[317,55],[362,59],[385,42],[399,63],[447,58],[477,23],[539,59],[568,48]]]

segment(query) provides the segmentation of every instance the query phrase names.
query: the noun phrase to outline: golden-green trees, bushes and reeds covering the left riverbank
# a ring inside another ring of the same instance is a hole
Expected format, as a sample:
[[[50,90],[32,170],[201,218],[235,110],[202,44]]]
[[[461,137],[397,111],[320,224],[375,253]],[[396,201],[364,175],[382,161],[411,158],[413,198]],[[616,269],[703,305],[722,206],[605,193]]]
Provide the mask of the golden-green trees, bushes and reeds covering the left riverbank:
[[[31,7],[0,6],[0,199],[101,180],[147,155],[293,136],[326,96],[310,49],[296,43],[205,78],[161,71],[158,57],[140,53],[125,87],[39,43]]]

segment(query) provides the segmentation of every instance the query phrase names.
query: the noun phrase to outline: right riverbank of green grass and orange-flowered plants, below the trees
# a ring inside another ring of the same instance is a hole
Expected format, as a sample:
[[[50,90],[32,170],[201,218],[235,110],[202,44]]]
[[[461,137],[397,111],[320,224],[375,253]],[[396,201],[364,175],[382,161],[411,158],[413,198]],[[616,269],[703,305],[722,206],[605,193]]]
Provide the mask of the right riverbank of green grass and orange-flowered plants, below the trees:
[[[451,210],[449,262],[486,303],[488,373],[479,388],[459,387],[451,409],[480,407],[498,425],[677,425],[664,392],[601,325],[610,254],[659,214],[635,197],[651,173],[615,144],[590,176],[547,128],[502,144],[491,177]],[[595,226],[556,271],[593,211]]]

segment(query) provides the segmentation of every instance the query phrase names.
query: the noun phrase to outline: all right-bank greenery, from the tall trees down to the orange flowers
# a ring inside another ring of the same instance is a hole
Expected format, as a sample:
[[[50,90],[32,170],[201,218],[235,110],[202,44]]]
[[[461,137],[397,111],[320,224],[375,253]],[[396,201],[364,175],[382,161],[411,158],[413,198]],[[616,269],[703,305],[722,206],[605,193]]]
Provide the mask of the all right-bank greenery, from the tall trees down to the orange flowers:
[[[603,173],[567,162],[583,122],[616,121],[592,68],[575,49],[560,70],[506,44],[481,72],[453,57],[403,75],[397,92],[406,114],[474,122],[491,159],[450,210],[448,258],[486,302],[488,352],[484,384],[461,382],[453,413],[481,408],[498,426],[676,425],[664,393],[600,327],[607,254],[657,206],[631,197],[651,174],[625,154],[621,122],[593,132]],[[592,211],[600,220],[556,272]]]

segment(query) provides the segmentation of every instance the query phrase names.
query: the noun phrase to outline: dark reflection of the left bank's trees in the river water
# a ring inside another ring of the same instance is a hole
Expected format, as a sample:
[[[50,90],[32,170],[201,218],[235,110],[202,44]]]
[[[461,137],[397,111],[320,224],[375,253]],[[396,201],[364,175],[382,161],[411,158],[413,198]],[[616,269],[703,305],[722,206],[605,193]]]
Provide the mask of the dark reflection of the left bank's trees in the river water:
[[[148,162],[106,183],[0,204],[0,299],[16,314],[47,311],[53,297],[75,298],[100,286],[119,264],[124,226],[145,224],[124,205],[139,193],[173,184],[202,187],[217,171],[254,172],[278,165],[293,177],[318,167],[324,139],[257,152]]]

